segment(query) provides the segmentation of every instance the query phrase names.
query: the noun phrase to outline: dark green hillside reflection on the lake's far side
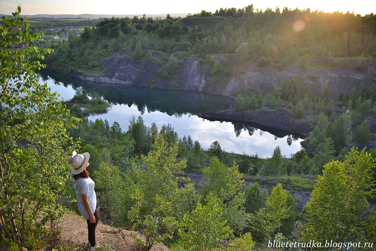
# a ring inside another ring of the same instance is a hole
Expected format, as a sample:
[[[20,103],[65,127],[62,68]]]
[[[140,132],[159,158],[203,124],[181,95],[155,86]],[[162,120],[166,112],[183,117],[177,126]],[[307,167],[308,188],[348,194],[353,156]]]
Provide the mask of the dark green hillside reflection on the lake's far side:
[[[73,90],[86,89],[89,95],[94,91],[111,103],[128,107],[135,105],[141,114],[161,111],[169,116],[197,114],[202,111],[227,110],[235,105],[234,100],[219,95],[209,95],[193,91],[174,91],[134,87],[129,85],[82,82],[59,73],[41,71],[42,81],[51,78],[55,85],[71,85]]]

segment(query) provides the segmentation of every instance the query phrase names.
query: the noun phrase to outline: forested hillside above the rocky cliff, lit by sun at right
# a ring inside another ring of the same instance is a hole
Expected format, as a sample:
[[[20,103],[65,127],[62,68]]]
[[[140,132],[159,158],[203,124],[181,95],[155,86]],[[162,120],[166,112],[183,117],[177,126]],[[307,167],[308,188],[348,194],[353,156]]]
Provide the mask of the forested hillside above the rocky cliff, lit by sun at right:
[[[137,43],[143,50],[177,57],[230,53],[240,62],[259,61],[260,66],[278,69],[287,64],[309,67],[317,61],[338,67],[349,64],[347,57],[360,56],[362,62],[353,66],[364,69],[365,61],[375,56],[373,14],[287,8],[262,12],[252,6],[205,13],[186,18],[104,18],[95,28],[85,28],[81,38],[55,45],[57,53],[50,60],[54,69],[68,64],[72,71],[88,71],[117,51],[135,50]],[[100,72],[93,70],[93,74]]]

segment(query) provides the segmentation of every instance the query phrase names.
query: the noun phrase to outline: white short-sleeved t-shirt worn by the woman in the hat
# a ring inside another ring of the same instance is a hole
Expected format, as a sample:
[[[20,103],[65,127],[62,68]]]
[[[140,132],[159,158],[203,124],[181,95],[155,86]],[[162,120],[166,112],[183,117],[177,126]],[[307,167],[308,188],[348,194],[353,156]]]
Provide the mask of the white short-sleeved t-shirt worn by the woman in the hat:
[[[90,217],[85,209],[85,205],[83,205],[82,195],[85,193],[88,194],[89,205],[92,213],[94,213],[97,207],[97,195],[94,191],[94,181],[90,177],[75,180],[72,175],[72,182],[74,190],[76,190],[78,208],[80,210],[80,213],[85,219],[88,220],[90,219]]]

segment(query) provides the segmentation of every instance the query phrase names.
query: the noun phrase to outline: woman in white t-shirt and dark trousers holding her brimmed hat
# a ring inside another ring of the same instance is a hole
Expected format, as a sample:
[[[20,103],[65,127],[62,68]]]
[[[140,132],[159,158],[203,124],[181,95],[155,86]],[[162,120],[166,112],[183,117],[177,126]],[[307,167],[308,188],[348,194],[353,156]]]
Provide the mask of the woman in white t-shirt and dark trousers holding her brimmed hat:
[[[96,209],[97,195],[94,191],[94,181],[86,170],[86,167],[89,166],[89,158],[88,152],[77,154],[76,151],[73,151],[69,163],[72,166],[72,182],[74,190],[76,190],[78,208],[88,223],[88,243],[86,243],[84,249],[93,251],[99,246],[95,240],[99,216]]]

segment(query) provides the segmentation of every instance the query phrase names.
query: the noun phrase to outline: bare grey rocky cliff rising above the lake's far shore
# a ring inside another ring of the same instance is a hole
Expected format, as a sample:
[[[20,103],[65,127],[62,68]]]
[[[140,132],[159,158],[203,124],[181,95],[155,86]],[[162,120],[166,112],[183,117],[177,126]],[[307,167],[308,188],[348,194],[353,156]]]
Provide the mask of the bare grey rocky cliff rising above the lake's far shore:
[[[232,76],[221,76],[224,85],[215,87],[210,84],[214,81],[211,69],[201,65],[197,58],[185,59],[180,72],[173,79],[160,79],[158,70],[162,67],[161,64],[151,60],[133,61],[127,57],[131,53],[132,50],[117,52],[111,58],[103,60],[106,68],[105,76],[90,77],[82,73],[74,73],[74,76],[87,81],[203,91],[225,96],[233,96],[234,92],[244,89],[270,91],[274,86],[282,86],[286,80],[296,78],[300,82],[309,84],[317,93],[321,93],[323,86],[327,86],[334,97],[338,97],[342,92],[350,93],[351,89],[362,81],[366,85],[373,85],[375,84],[373,79],[376,78],[376,61],[368,62],[364,71],[346,66],[321,70],[289,65],[283,70],[263,72],[257,71],[257,65],[253,63],[234,68]],[[162,56],[157,52],[146,52],[146,54]],[[225,56],[213,57],[219,61],[225,58]]]

